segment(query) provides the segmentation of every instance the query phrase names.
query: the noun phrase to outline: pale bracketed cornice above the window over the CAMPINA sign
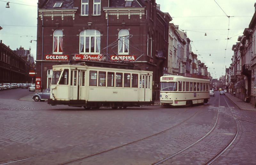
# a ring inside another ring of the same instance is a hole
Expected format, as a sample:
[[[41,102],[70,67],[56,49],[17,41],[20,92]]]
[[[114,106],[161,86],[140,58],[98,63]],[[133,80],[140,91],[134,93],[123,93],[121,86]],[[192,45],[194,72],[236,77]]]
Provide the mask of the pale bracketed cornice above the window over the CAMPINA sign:
[[[119,15],[128,15],[128,19],[131,18],[131,15],[139,15],[141,19],[145,14],[145,7],[103,7],[103,11],[106,13],[106,19],[108,19],[108,15],[116,15],[117,19],[119,19]]]

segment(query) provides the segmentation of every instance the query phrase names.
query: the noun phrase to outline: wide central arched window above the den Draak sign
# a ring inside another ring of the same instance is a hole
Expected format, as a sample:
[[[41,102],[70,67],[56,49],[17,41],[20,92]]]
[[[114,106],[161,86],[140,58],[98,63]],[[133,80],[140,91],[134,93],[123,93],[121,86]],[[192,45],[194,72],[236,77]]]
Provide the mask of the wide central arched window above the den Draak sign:
[[[80,53],[100,54],[100,32],[94,29],[87,29],[80,32]]]

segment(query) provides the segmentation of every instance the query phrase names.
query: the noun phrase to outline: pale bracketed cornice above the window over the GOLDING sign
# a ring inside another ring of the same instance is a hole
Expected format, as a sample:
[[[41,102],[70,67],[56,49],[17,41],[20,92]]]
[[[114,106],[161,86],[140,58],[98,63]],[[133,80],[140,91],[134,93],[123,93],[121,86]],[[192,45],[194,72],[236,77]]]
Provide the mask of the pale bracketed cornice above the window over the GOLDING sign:
[[[56,16],[61,16],[61,19],[64,19],[64,16],[72,16],[73,20],[75,19],[75,13],[77,9],[38,9],[38,16],[41,17],[51,17],[52,20]]]

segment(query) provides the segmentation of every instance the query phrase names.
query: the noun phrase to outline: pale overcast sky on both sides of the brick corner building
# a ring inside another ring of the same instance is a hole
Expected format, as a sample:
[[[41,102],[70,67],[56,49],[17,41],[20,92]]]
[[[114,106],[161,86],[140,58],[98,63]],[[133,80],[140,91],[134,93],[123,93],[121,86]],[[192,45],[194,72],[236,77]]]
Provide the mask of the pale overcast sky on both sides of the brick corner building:
[[[8,0],[10,8],[5,8],[6,1],[3,1],[0,0],[0,26],[3,28],[0,39],[12,50],[20,46],[31,47],[31,54],[36,56],[36,41],[29,41],[36,40],[37,0]],[[252,19],[255,1],[215,1],[156,0],[156,3],[160,4],[161,11],[169,12],[172,23],[187,32],[193,41],[192,51],[207,65],[213,78],[219,78],[225,74],[225,67],[230,66],[232,45],[236,44],[239,35],[243,35]]]

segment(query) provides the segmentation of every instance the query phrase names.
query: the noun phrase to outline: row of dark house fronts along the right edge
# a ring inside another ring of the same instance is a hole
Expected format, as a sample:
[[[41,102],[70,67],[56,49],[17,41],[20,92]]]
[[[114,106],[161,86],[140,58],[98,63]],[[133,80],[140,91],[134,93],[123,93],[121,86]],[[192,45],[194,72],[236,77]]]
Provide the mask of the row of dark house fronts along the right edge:
[[[256,11],[256,3],[254,4]],[[232,63],[226,69],[225,86],[234,96],[255,104],[256,102],[256,12],[248,28],[232,46]]]

